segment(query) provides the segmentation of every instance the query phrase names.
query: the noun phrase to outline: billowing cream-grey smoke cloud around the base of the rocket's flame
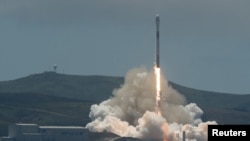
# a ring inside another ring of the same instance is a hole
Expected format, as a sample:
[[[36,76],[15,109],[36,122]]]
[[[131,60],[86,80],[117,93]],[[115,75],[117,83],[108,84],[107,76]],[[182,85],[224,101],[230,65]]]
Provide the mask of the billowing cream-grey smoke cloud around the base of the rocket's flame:
[[[124,84],[113,91],[113,96],[91,106],[92,122],[86,127],[93,132],[111,132],[122,137],[179,141],[182,132],[186,140],[206,141],[207,125],[203,111],[195,104],[187,104],[185,97],[168,85],[161,75],[162,115],[155,112],[155,75],[145,68],[130,70]],[[164,129],[163,129],[164,128]]]

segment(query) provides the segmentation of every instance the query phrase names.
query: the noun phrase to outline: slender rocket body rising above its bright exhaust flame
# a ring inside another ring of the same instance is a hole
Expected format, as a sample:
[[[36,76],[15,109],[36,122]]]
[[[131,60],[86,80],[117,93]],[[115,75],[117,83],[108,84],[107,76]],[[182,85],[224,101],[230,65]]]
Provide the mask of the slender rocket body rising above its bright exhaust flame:
[[[156,48],[155,48],[155,67],[160,68],[160,15],[157,14],[155,18],[156,23]]]

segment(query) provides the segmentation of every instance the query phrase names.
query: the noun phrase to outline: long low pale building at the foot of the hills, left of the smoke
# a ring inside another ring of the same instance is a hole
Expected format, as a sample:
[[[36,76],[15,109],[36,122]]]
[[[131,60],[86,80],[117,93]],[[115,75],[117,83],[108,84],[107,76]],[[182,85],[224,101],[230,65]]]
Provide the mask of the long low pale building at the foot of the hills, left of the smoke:
[[[14,124],[9,126],[8,137],[0,141],[88,141],[89,131],[81,126],[38,126]]]

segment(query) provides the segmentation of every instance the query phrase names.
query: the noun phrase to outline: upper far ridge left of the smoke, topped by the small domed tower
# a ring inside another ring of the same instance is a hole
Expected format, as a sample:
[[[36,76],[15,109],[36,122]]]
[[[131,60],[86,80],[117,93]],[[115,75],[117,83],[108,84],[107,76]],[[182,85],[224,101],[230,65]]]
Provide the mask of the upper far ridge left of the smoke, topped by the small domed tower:
[[[79,76],[44,72],[0,82],[0,93],[40,93],[80,100],[102,101],[123,83],[122,77]]]

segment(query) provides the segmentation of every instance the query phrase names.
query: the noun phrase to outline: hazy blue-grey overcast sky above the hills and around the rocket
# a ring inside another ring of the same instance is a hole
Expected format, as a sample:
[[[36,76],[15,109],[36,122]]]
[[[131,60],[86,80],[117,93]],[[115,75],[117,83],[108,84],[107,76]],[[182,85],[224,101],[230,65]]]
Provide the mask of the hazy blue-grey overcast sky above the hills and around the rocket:
[[[0,81],[52,70],[125,76],[154,64],[196,89],[250,93],[249,0],[0,0]]]

